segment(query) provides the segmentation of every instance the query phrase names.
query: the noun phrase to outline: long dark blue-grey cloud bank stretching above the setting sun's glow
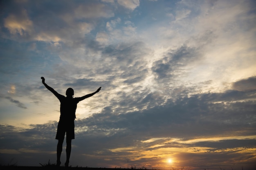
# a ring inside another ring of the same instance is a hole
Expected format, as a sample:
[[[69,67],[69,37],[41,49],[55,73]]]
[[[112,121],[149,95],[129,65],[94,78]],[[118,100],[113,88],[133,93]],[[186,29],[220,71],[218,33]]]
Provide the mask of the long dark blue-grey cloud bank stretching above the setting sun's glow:
[[[102,130],[107,132],[110,129],[120,129],[121,131],[125,129],[127,132],[134,131],[133,133],[138,136],[150,131],[150,134],[154,137],[171,135],[178,138],[182,136],[190,138],[196,134],[218,135],[225,133],[225,131],[230,131],[232,128],[238,132],[243,126],[245,129],[250,129],[249,124],[254,124],[254,120],[252,120],[254,102],[247,102],[248,110],[246,113],[248,114],[247,116],[250,116],[241,117],[240,109],[243,107],[240,105],[243,105],[243,102],[236,101],[241,99],[240,94],[235,94],[230,99],[226,97],[229,96],[229,91],[220,94],[219,98],[213,97],[216,95],[218,94],[194,95],[177,99],[175,102],[168,100],[162,106],[148,107],[145,110],[126,114],[120,114],[118,111],[113,112],[113,108],[110,107],[108,110],[103,110],[101,114],[93,114],[79,124],[81,126],[86,124],[88,130],[94,129],[97,134],[101,133]],[[150,100],[152,102],[159,101],[155,96],[151,96]],[[246,96],[249,98],[250,93],[247,92]],[[140,105],[140,102],[148,103],[150,100],[137,100],[136,103]],[[129,104],[129,100],[127,100],[126,104],[132,106],[132,104]],[[218,125],[214,125],[216,123]],[[79,124],[77,126],[80,126]],[[204,128],[201,128],[202,126]],[[218,126],[218,128],[215,128],[215,126]],[[164,127],[164,129],[161,127]],[[193,129],[193,131],[189,129]],[[181,132],[182,134],[180,134]],[[253,134],[252,131],[250,133]],[[144,135],[143,138],[146,138],[146,136]]]

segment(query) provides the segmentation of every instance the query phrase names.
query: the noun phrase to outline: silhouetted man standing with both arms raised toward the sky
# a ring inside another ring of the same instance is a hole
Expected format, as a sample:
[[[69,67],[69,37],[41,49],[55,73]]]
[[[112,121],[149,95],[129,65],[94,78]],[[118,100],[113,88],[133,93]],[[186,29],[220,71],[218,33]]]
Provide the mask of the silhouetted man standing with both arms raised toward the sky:
[[[61,165],[61,152],[62,152],[62,145],[66,133],[66,153],[67,153],[67,160],[65,162],[65,167],[68,167],[69,160],[70,160],[70,153],[71,153],[71,140],[75,138],[74,133],[74,120],[76,119],[76,107],[77,103],[81,100],[84,100],[85,98],[91,97],[94,94],[98,93],[101,90],[101,87],[97,89],[96,92],[87,94],[82,97],[73,98],[74,96],[74,90],[72,88],[68,88],[66,91],[66,96],[63,96],[61,94],[58,94],[52,87],[47,85],[45,83],[45,78],[41,77],[42,83],[45,85],[45,87],[51,91],[61,102],[61,116],[60,120],[58,122],[58,129],[56,138],[58,139],[58,145],[57,145],[57,166]]]

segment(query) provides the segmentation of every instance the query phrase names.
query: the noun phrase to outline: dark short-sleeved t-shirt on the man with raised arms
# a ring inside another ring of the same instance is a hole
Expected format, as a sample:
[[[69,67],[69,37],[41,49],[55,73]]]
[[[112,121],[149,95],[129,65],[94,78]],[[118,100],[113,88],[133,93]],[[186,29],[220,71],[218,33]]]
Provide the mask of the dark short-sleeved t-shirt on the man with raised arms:
[[[72,121],[76,118],[76,107],[80,101],[79,98],[69,98],[61,94],[56,96],[61,102],[61,116],[60,121]]]

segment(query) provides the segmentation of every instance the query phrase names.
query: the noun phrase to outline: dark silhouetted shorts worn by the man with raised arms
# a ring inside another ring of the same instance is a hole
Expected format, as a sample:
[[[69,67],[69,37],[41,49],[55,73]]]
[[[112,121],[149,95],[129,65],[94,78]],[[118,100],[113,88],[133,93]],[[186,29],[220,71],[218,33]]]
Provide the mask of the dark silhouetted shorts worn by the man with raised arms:
[[[74,139],[75,138],[75,124],[74,120],[72,121],[59,121],[58,122],[58,129],[55,139]]]

